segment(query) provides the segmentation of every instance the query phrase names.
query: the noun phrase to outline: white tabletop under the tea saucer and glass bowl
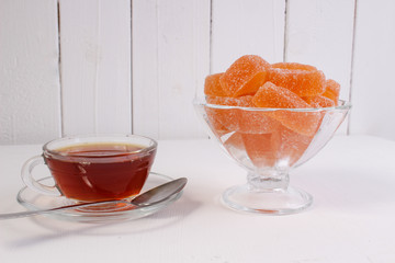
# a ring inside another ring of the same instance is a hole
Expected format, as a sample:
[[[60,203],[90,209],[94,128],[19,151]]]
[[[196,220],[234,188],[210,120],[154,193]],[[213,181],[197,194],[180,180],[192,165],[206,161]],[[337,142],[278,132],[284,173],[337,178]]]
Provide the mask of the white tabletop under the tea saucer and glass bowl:
[[[24,160],[41,146],[0,146],[0,213],[23,210]],[[154,171],[188,176],[182,197],[150,217],[81,224],[37,216],[0,221],[0,262],[395,262],[395,141],[338,136],[293,171],[315,201],[291,216],[225,208],[245,172],[214,141],[161,140]]]

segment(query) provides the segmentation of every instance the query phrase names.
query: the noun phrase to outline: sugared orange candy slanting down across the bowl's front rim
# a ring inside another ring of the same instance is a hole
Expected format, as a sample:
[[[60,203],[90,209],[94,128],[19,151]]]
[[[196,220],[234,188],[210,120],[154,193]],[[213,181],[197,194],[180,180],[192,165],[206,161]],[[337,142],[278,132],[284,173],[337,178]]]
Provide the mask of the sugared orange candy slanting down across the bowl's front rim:
[[[258,107],[274,108],[307,108],[312,107],[292,91],[276,87],[271,82],[264,83],[252,98],[252,103]],[[316,133],[320,115],[316,112],[297,112],[278,110],[267,113],[279,121],[285,127],[306,136]]]

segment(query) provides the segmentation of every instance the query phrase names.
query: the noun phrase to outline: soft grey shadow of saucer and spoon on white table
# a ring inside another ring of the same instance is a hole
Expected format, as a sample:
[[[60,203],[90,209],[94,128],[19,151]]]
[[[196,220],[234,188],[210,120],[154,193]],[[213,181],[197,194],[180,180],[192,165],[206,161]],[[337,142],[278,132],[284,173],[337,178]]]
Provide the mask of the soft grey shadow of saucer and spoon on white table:
[[[171,227],[179,224],[196,210],[201,206],[201,202],[191,198],[184,193],[179,201],[171,204],[166,209],[162,209],[148,217],[112,221],[101,224],[88,224],[88,222],[72,222],[65,220],[57,220],[49,217],[33,217],[31,220],[36,225],[46,228],[53,233],[42,235],[40,237],[27,238],[18,240],[10,243],[10,247],[22,248],[29,245],[35,245],[43,242],[48,242],[58,238],[65,238],[66,236],[124,236],[136,235],[143,232],[158,231],[163,228]]]

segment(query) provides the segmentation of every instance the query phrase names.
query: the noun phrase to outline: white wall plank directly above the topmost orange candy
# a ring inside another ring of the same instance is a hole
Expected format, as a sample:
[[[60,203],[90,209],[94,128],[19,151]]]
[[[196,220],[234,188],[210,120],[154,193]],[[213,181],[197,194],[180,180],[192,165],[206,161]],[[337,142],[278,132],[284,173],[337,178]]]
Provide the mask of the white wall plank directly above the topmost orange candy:
[[[285,1],[213,0],[212,73],[223,72],[242,55],[281,61]]]

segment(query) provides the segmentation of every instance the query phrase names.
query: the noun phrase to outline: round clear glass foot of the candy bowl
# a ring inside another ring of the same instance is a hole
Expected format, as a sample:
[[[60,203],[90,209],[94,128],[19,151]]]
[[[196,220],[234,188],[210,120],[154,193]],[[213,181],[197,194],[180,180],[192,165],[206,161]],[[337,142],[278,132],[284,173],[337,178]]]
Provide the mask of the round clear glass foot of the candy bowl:
[[[313,204],[313,196],[291,186],[286,190],[256,190],[244,184],[227,188],[222,202],[234,210],[275,216],[308,208]]]

